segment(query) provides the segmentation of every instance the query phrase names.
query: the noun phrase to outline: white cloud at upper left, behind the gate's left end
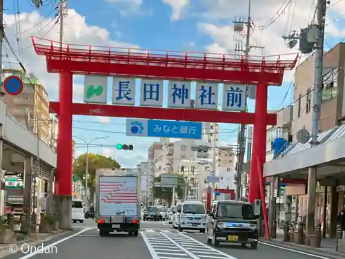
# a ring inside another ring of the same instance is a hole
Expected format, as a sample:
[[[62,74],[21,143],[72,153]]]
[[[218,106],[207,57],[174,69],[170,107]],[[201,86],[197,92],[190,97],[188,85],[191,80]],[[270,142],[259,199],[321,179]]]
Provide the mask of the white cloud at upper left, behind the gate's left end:
[[[8,35],[8,40],[17,51],[17,43],[15,41],[16,26],[14,15],[4,15],[6,21],[6,35]],[[41,17],[38,12],[22,13],[20,16],[21,21],[21,46],[22,46],[22,63],[28,72],[34,73],[34,75],[39,78],[43,86],[46,87],[50,99],[58,99],[58,75],[50,74],[46,70],[46,58],[43,56],[38,56],[34,52],[32,47],[32,42],[30,36],[34,35],[36,37],[43,37],[46,39],[51,39],[58,41],[59,33],[57,30],[59,25],[55,25],[52,28],[54,22],[50,22],[50,19],[45,19],[39,26],[30,30],[30,28],[39,24],[44,17]],[[48,24],[49,23],[49,24]],[[90,44],[91,46],[117,46],[117,47],[133,47],[139,48],[135,44],[127,44],[124,42],[117,42],[110,39],[110,33],[108,30],[98,27],[90,26],[86,23],[86,17],[79,15],[75,10],[68,10],[68,16],[65,18],[64,23],[72,24],[73,26],[65,26],[63,32],[63,41],[67,44]],[[26,32],[27,31],[27,32]],[[39,32],[38,32],[39,31]],[[38,32],[38,33],[36,33]],[[46,41],[46,44],[50,44],[50,41]],[[8,46],[6,46],[8,49]],[[9,52],[9,51],[8,51]],[[5,54],[5,53],[4,53]],[[10,62],[17,63],[17,60],[11,53],[8,53],[8,59]],[[17,56],[18,52],[17,52]],[[6,65],[6,59],[4,59],[4,64]],[[13,66],[12,66],[13,67]],[[19,66],[18,66],[19,67]],[[80,78],[80,76],[75,76],[75,79]],[[74,84],[74,99],[77,102],[82,101],[82,90],[81,84]]]

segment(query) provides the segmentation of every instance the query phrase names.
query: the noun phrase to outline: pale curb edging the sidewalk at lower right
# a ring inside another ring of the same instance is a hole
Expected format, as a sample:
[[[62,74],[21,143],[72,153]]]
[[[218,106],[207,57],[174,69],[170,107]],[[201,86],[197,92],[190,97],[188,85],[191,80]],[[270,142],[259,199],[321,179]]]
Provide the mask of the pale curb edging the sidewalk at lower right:
[[[344,255],[342,253],[337,252],[323,252],[323,251],[315,251],[315,249],[308,248],[303,246],[302,244],[288,244],[288,242],[279,242],[274,240],[259,240],[262,244],[267,244],[275,247],[282,247],[284,249],[291,249],[295,250],[300,253],[309,253],[311,256],[322,258],[322,259],[344,259]],[[317,248],[316,248],[317,249]]]

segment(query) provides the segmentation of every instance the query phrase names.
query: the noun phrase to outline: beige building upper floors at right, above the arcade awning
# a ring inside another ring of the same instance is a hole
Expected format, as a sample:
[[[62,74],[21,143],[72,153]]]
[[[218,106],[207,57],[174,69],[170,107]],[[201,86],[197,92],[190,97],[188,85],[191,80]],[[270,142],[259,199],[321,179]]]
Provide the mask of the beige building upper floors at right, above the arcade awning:
[[[324,87],[322,89],[319,131],[339,124],[345,117],[344,99],[345,44],[339,43],[324,54]],[[291,133],[293,141],[301,128],[311,132],[315,56],[311,55],[295,71],[295,105]]]

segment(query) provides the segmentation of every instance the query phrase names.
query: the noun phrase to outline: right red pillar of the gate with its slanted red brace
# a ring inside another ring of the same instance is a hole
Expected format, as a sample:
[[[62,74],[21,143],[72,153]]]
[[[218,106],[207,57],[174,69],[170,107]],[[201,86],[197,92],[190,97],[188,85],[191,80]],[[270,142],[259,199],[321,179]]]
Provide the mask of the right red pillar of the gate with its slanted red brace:
[[[267,95],[268,86],[264,84],[257,85],[255,99],[255,122],[253,129],[253,151],[250,162],[249,179],[249,202],[260,199],[259,173],[258,168],[263,168],[266,162],[266,113],[267,113]],[[259,164],[257,164],[259,163]],[[258,167],[259,166],[259,167]],[[264,181],[263,181],[264,182]],[[265,202],[265,201],[262,201]]]

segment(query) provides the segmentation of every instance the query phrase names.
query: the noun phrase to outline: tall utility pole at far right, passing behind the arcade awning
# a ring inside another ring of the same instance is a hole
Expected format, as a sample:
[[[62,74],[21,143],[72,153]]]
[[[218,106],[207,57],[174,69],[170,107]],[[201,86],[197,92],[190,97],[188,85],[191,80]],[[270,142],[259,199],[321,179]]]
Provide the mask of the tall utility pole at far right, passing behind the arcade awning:
[[[317,0],[317,24],[311,28],[317,30],[317,43],[315,44],[315,79],[313,95],[313,123],[311,132],[311,145],[316,146],[317,135],[319,133],[319,117],[322,103],[322,84],[324,70],[324,26],[326,16],[326,0]],[[310,167],[308,169],[308,202],[306,218],[306,234],[313,236],[315,234],[315,191],[316,191],[317,169]]]

